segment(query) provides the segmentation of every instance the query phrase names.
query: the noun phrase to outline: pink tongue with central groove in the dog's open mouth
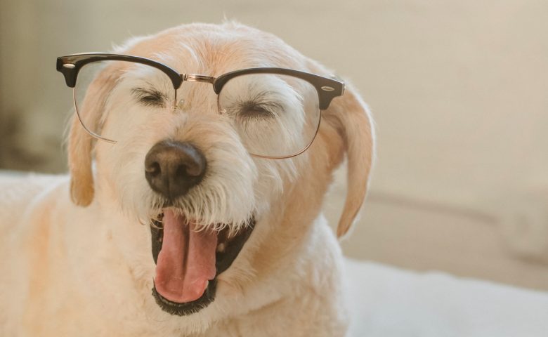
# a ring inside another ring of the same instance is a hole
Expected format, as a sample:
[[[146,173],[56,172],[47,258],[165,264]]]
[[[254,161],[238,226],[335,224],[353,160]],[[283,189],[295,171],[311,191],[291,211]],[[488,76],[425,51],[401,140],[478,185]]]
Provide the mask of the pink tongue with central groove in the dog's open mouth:
[[[156,263],[156,291],[164,298],[185,303],[200,298],[214,279],[217,234],[195,232],[195,223],[164,209],[164,239]],[[190,228],[189,228],[190,227]]]

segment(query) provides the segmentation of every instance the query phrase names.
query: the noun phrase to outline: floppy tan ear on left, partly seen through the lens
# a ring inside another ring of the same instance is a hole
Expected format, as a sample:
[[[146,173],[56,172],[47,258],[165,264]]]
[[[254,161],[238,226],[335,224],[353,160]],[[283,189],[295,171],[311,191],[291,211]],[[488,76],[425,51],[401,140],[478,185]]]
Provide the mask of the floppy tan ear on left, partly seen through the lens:
[[[116,83],[116,72],[104,70],[89,85],[79,116],[74,112],[68,138],[68,161],[70,171],[70,197],[78,206],[88,206],[93,201],[93,145],[95,139],[86,132],[84,123],[91,130],[98,130],[105,107],[104,98]],[[80,121],[81,119],[81,121]]]

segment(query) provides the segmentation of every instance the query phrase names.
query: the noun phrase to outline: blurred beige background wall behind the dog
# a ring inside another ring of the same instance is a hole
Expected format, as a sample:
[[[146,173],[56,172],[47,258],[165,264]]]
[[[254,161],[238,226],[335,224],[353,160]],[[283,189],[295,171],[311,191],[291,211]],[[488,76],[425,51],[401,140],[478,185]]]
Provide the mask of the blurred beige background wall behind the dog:
[[[377,163],[346,255],[548,290],[547,1],[2,0],[0,169],[67,171],[57,56],[225,18],[278,35],[370,105]]]

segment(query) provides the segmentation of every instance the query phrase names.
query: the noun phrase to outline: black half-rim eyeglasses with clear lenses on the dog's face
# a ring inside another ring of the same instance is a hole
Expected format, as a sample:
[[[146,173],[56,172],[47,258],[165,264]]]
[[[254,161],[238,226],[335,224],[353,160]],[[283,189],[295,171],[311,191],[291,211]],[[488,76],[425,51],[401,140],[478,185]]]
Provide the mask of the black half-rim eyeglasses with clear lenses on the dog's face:
[[[218,113],[228,117],[247,151],[270,159],[306,151],[318,133],[322,110],[344,93],[343,81],[299,70],[257,67],[211,77],[108,53],[62,56],[57,70],[73,88],[81,126],[98,140],[116,143],[116,130],[140,127],[136,116],[185,110],[190,89],[183,82],[204,82],[213,86]]]

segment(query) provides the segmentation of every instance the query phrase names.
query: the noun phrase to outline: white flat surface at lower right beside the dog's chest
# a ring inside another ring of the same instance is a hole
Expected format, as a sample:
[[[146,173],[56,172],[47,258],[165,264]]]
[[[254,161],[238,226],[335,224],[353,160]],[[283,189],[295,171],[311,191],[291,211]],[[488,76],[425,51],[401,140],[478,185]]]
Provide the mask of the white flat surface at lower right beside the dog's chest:
[[[548,336],[548,293],[355,260],[347,268],[348,336]]]

